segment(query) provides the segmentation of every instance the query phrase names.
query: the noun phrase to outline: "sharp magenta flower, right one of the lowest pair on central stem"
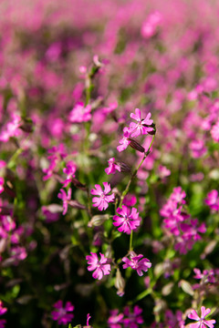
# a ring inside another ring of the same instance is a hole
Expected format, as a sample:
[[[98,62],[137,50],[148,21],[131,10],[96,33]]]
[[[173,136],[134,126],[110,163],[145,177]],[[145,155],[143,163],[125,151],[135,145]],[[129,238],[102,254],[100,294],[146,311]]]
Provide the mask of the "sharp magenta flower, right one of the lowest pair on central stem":
[[[130,259],[128,257],[123,257],[122,261],[125,262],[123,264],[123,269],[127,269],[128,267],[136,270],[139,276],[143,275],[143,272],[147,272],[149,268],[151,268],[151,262],[148,259],[141,259],[143,255],[137,255],[134,251],[130,252]]]

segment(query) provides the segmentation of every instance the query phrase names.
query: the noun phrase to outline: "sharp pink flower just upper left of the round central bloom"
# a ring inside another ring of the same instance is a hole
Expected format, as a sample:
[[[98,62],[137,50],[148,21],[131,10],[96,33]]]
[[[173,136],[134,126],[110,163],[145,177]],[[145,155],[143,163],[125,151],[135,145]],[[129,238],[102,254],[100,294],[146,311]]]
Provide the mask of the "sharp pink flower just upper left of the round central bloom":
[[[91,195],[98,195],[99,197],[94,197],[92,201],[94,202],[93,206],[97,207],[99,210],[106,210],[109,207],[109,202],[113,201],[115,199],[114,193],[110,196],[107,196],[107,194],[110,192],[111,187],[110,183],[103,182],[104,191],[101,189],[101,187],[97,184],[95,185],[95,189],[90,190]]]

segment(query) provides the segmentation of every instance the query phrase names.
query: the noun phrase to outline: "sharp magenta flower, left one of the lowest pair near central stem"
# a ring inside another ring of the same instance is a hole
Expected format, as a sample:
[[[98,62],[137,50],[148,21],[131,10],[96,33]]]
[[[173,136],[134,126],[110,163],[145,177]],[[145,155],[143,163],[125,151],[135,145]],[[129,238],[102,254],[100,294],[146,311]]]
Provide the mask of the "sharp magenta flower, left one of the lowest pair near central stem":
[[[92,277],[94,279],[101,280],[103,275],[110,274],[111,268],[108,263],[109,259],[106,258],[103,254],[99,253],[100,260],[96,253],[90,252],[91,255],[86,256],[86,260],[88,261],[89,271],[94,271]]]

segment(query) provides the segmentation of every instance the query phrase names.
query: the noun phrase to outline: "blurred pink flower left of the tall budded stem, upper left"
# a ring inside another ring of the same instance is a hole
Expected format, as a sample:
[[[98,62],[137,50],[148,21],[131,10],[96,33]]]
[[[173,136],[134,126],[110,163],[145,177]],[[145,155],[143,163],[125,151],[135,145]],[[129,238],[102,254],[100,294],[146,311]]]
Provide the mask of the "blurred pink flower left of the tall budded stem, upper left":
[[[72,123],[88,122],[91,118],[91,106],[84,106],[83,102],[78,102],[69,114],[69,120]]]

